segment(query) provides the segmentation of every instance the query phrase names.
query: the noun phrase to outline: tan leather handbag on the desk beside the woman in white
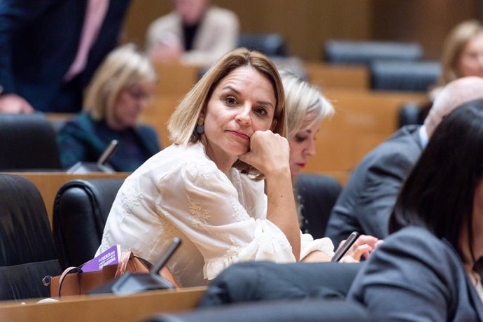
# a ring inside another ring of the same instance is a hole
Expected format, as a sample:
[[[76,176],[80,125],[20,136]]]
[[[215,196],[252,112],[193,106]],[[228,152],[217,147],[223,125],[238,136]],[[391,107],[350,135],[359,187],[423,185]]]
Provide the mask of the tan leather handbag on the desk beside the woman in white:
[[[150,262],[135,256],[130,251],[122,253],[118,264],[106,265],[102,267],[101,271],[82,272],[82,265],[80,267],[69,267],[62,274],[53,276],[50,280],[50,297],[85,295],[93,288],[116,279],[125,272],[148,273],[152,267],[153,265]],[[167,267],[160,270],[160,275],[176,288],[179,288],[179,283]]]

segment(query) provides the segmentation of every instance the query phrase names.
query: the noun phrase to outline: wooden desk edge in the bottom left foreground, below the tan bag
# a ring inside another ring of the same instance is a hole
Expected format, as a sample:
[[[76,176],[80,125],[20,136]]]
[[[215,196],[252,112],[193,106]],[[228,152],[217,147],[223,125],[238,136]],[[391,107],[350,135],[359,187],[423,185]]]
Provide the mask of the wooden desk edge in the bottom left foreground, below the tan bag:
[[[153,290],[128,296],[87,295],[59,302],[0,302],[0,321],[142,321],[160,312],[194,309],[206,287]]]

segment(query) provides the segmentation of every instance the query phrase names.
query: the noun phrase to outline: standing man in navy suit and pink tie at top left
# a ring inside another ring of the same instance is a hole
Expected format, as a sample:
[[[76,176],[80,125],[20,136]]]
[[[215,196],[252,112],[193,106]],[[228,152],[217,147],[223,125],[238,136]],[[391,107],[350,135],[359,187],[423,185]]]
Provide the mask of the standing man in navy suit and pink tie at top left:
[[[29,113],[32,108],[59,113],[80,111],[84,87],[118,44],[129,2],[0,1],[0,112]],[[98,3],[104,6],[101,15],[97,15]],[[92,24],[92,13],[97,15],[97,22],[93,22],[97,28],[85,42],[83,34]],[[84,42],[85,55],[79,55]],[[73,63],[79,57],[83,62],[74,71]]]

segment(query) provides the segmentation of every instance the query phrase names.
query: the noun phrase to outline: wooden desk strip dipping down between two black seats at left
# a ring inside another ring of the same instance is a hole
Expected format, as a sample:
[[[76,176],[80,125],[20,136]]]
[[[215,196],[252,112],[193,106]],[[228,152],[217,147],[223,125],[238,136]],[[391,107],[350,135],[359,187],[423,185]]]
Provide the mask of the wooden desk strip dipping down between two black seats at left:
[[[55,196],[57,195],[57,191],[64,186],[64,183],[76,179],[126,178],[130,175],[130,173],[127,172],[116,172],[113,174],[105,174],[102,172],[92,174],[66,174],[65,172],[8,172],[8,174],[24,176],[35,184],[43,197],[51,227]]]

